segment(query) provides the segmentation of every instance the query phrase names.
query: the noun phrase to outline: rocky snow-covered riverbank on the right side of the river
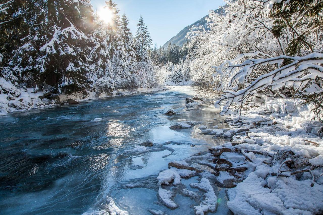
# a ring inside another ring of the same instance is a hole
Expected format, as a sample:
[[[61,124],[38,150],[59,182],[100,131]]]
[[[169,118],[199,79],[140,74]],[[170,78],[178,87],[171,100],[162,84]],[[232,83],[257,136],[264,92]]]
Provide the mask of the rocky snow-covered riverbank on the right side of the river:
[[[311,109],[299,100],[265,99],[249,101],[241,116],[227,116],[227,128],[203,122],[200,135],[227,141],[169,163],[157,177],[160,198],[178,207],[172,190],[182,178],[198,176],[190,186],[202,190],[204,199],[195,214],[219,207],[212,183],[228,188],[227,207],[234,214],[322,214],[323,126],[311,120]]]

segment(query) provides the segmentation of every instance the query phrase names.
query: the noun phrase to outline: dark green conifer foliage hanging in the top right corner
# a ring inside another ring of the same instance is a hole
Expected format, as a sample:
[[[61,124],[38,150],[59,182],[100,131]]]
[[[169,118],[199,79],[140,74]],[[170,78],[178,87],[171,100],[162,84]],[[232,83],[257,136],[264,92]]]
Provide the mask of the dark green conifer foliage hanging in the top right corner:
[[[322,10],[321,0],[281,1],[273,5],[270,13],[270,18],[275,20],[273,35],[282,36],[285,28],[293,36],[286,49],[287,55],[301,56],[315,51],[315,41],[322,37]],[[309,35],[316,35],[316,38],[309,38]]]

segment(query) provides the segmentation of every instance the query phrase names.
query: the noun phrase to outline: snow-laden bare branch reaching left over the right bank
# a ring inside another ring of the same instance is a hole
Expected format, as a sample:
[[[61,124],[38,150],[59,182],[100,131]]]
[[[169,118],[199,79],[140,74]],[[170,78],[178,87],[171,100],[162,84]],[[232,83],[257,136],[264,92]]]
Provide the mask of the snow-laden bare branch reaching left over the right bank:
[[[262,58],[249,58],[256,56]],[[236,64],[236,62],[241,61],[242,63]],[[216,101],[215,107],[220,108],[221,102],[226,101],[222,108],[222,114],[225,114],[234,103],[241,108],[248,97],[261,90],[270,87],[271,90],[277,90],[292,86],[297,81],[302,82],[314,80],[315,77],[323,77],[322,63],[323,54],[321,53],[311,53],[307,56],[281,55],[278,57],[269,57],[260,52],[239,55],[233,60],[227,60],[220,66],[214,67],[222,76],[232,74],[227,79],[227,90]],[[274,64],[275,67],[264,68],[264,66]],[[259,72],[260,70],[261,72]],[[257,74],[259,75],[257,76]]]

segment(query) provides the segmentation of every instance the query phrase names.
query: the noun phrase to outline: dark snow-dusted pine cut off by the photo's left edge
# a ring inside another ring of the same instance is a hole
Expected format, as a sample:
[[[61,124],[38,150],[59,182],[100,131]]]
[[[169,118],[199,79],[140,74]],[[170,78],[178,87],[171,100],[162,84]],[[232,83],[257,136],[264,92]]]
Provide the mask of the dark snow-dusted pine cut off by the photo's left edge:
[[[0,1],[0,93],[6,93],[10,98],[20,94],[20,90],[16,88],[18,84],[24,84],[28,77],[33,76],[28,67],[24,67],[23,61],[30,61],[35,53],[33,47],[25,44],[26,40],[23,38],[42,28],[46,19],[45,11],[46,8],[40,0],[30,0],[28,4],[22,4],[19,0]],[[30,53],[19,58],[25,71],[13,71],[9,69],[12,53],[21,46]]]

